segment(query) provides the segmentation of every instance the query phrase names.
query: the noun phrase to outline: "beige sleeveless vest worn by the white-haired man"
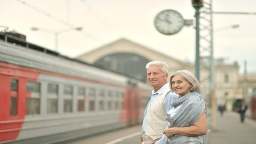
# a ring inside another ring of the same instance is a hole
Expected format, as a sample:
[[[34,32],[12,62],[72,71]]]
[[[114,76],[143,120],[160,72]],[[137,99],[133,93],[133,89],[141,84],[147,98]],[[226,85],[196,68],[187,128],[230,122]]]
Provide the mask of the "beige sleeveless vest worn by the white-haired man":
[[[170,88],[167,88],[161,95],[157,96],[147,112],[147,124],[145,133],[153,140],[161,138],[166,128],[164,98],[169,91],[171,91]],[[147,108],[145,109],[145,112],[147,111]]]

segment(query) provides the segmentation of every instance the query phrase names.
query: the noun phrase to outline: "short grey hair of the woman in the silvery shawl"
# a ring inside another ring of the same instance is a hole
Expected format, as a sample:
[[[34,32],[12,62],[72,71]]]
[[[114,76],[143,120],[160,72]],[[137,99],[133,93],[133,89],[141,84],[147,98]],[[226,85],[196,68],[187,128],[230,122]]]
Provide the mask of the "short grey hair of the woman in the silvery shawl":
[[[187,70],[179,70],[171,75],[170,87],[172,90],[173,90],[173,86],[171,84],[171,81],[173,80],[173,77],[175,77],[177,75],[182,76],[186,81],[188,81],[188,83],[190,83],[192,85],[192,87],[190,88],[190,92],[199,90],[199,88],[200,88],[199,81],[197,80],[196,76],[193,73],[191,73],[190,71],[187,71]]]

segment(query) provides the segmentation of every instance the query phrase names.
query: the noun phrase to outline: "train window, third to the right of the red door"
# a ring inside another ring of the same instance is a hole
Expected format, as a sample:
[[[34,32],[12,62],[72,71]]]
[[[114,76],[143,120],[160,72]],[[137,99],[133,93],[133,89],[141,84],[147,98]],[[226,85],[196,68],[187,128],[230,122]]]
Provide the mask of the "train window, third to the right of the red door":
[[[71,113],[73,106],[73,87],[65,86],[64,87],[64,112]]]

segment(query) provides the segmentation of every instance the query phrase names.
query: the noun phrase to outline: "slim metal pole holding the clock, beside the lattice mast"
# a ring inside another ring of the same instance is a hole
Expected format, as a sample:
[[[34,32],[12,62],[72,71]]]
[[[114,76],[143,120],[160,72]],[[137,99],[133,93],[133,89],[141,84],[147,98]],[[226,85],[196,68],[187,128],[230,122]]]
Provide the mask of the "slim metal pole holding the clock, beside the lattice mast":
[[[199,61],[199,16],[200,16],[200,12],[199,9],[200,7],[195,7],[196,9],[196,62],[195,62],[195,70],[196,70],[196,78],[198,79],[198,81],[200,81],[200,61]]]

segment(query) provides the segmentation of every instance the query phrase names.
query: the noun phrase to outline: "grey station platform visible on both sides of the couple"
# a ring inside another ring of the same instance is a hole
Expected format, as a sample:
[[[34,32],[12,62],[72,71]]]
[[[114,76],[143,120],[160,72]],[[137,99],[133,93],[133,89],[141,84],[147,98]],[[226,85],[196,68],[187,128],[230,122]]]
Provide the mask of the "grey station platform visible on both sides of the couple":
[[[109,133],[95,135],[72,142],[72,144],[140,144],[141,125],[116,130]],[[255,144],[256,121],[246,117],[240,123],[238,113],[226,112],[222,116],[217,114],[217,130],[211,131],[206,144]]]

